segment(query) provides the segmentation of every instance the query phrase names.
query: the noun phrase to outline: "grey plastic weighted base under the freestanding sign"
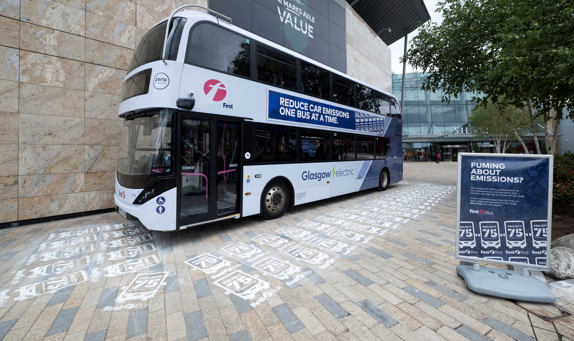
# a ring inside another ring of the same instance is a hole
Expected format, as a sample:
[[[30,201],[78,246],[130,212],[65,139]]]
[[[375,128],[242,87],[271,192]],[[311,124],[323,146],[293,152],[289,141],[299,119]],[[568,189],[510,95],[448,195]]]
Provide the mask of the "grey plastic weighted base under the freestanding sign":
[[[518,271],[459,265],[456,273],[464,278],[468,289],[503,299],[554,303],[556,296],[538,278],[522,276]]]

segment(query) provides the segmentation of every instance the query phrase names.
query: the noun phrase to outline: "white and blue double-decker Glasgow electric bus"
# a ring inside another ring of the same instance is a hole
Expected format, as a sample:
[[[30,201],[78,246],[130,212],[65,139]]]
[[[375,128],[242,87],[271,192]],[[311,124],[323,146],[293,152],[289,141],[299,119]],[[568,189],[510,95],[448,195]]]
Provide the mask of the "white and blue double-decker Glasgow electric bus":
[[[274,219],[402,180],[392,94],[191,6],[141,38],[127,71],[119,214],[161,231]]]

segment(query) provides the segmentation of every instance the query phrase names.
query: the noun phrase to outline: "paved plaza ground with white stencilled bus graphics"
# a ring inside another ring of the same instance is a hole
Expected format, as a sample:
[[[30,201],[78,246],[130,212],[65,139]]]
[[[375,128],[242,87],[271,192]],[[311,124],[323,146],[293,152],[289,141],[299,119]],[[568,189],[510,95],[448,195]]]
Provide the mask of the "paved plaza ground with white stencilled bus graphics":
[[[455,210],[456,163],[420,162],[385,192],[276,220],[159,232],[110,213],[7,228],[0,340],[574,340],[572,317],[534,314],[559,315],[552,305],[466,288]],[[574,283],[559,283],[557,305],[574,310]]]

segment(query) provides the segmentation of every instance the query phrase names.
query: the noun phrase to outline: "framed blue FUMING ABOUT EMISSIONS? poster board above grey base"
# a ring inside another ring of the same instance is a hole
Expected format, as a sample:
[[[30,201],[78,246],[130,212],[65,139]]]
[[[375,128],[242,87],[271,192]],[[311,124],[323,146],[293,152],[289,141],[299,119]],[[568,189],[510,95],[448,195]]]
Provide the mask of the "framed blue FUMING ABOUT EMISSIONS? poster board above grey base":
[[[457,257],[546,267],[552,158],[461,153]]]

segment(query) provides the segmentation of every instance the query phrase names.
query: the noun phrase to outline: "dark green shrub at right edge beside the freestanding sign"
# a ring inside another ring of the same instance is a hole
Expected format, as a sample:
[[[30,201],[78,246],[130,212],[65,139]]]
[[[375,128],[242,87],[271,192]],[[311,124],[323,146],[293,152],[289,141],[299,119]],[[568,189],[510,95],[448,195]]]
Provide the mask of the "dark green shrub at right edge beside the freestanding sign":
[[[574,154],[554,156],[553,206],[574,207]]]

